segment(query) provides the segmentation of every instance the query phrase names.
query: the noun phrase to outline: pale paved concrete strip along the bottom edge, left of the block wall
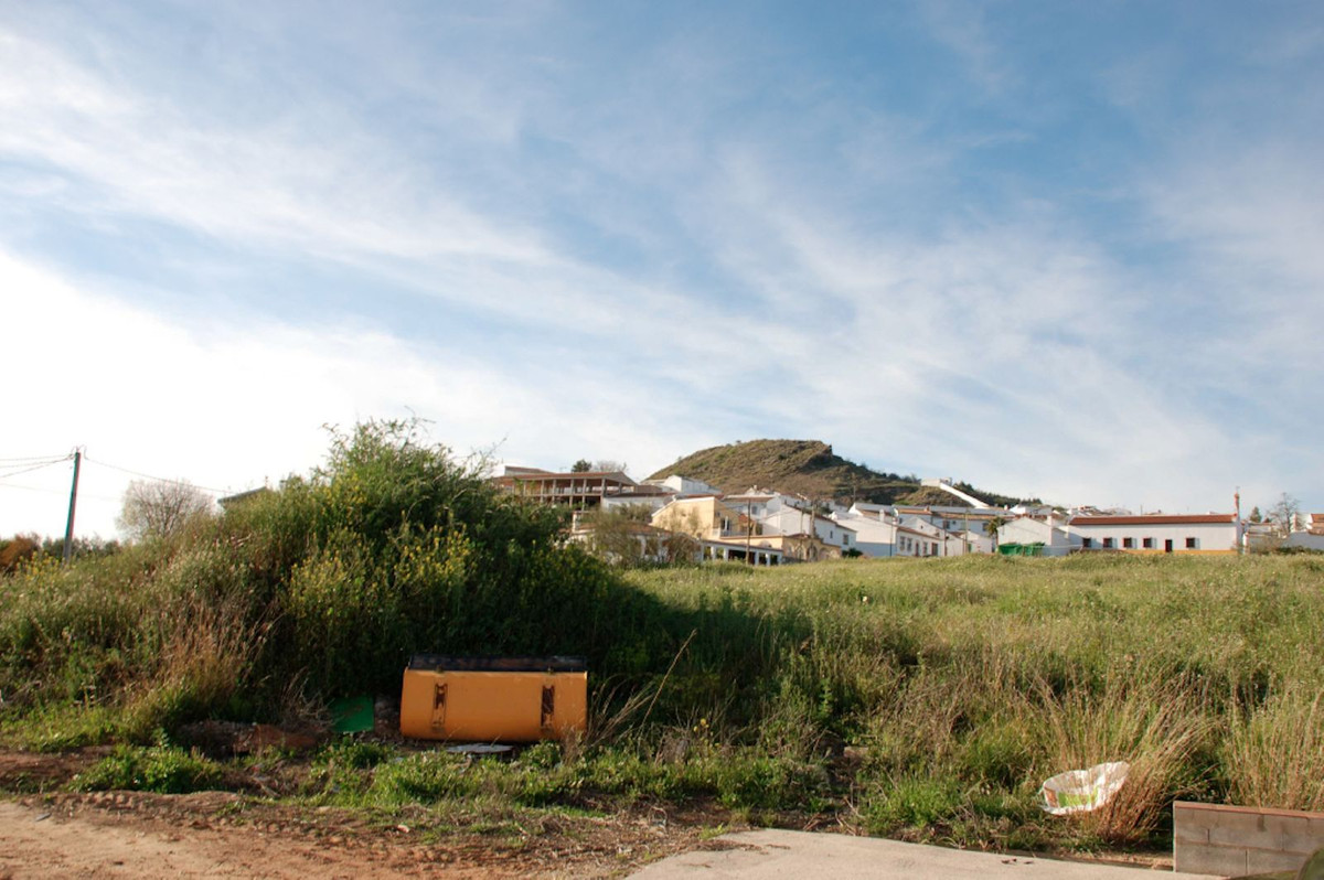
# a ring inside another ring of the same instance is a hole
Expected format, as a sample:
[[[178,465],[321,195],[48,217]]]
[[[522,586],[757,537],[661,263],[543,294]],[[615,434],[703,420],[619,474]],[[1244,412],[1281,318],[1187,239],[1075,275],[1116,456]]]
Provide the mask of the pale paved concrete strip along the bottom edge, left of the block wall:
[[[741,880],[1214,880],[1202,873],[1155,872],[1082,861],[1057,861],[994,852],[944,850],[899,840],[805,831],[741,831],[718,838],[723,850],[663,859],[632,875],[639,880],[740,877]]]

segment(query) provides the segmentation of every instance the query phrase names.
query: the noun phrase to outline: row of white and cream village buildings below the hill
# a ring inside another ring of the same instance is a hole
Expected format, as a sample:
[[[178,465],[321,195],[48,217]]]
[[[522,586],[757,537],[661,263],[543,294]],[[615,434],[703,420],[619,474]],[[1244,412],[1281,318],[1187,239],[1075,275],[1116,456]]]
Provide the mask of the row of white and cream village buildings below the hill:
[[[928,498],[936,494],[949,500],[945,504],[813,499],[779,486],[728,492],[679,472],[636,482],[624,470],[555,472],[507,466],[495,482],[532,502],[569,507],[571,540],[649,561],[782,565],[853,556],[1094,550],[1229,554],[1256,549],[1256,541],[1271,537],[1264,527],[1242,521],[1237,511],[1136,515],[1039,503],[1005,506],[988,503],[951,479],[922,482]],[[1305,515],[1286,544],[1324,549],[1324,513]]]

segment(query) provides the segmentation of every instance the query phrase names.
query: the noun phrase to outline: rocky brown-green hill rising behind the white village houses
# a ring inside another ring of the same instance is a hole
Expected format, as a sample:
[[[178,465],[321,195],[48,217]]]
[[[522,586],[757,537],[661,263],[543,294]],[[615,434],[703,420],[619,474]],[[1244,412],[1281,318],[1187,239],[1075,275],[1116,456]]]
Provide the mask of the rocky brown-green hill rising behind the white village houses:
[[[647,479],[681,474],[716,486],[723,492],[743,492],[752,486],[776,488],[790,495],[874,504],[943,504],[963,502],[941,490],[920,486],[915,476],[875,471],[833,453],[822,441],[757,439],[714,446],[686,455]],[[990,504],[1013,506],[1022,500],[976,490],[968,483],[957,488]]]

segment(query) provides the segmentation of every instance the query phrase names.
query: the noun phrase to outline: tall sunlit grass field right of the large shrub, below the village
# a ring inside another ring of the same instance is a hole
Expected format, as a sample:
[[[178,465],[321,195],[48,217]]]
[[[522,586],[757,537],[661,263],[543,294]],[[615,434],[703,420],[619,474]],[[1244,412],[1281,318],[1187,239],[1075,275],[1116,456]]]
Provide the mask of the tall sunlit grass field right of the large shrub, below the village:
[[[1162,828],[1174,797],[1324,809],[1324,560],[970,557],[632,577],[698,622],[674,711],[767,754],[858,746],[846,798],[873,832],[1132,844]],[[1042,779],[1115,760],[1132,773],[1108,809],[1070,824],[1037,814]]]

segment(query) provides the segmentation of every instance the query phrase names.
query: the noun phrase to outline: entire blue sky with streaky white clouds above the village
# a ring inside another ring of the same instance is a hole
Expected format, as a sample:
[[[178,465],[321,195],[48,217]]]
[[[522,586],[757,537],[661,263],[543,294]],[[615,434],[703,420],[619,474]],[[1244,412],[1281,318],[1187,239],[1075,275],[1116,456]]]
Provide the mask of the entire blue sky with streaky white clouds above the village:
[[[1324,5],[0,0],[0,535],[328,426],[1324,509]]]

